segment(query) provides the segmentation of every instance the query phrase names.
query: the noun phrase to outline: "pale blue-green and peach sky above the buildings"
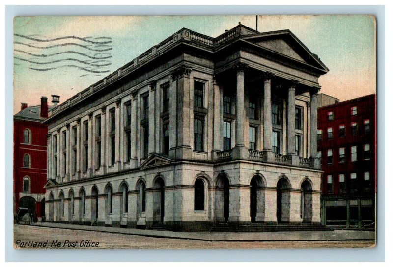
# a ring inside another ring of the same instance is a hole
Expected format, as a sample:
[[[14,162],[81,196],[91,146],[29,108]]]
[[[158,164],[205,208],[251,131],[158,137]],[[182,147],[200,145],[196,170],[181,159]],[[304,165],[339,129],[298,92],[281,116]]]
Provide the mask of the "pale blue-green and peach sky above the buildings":
[[[15,17],[14,114],[41,96],[67,100],[183,27],[217,37],[239,22],[255,28],[255,16]],[[330,69],[320,93],[344,101],[376,92],[374,17],[258,16],[258,31],[282,29]]]

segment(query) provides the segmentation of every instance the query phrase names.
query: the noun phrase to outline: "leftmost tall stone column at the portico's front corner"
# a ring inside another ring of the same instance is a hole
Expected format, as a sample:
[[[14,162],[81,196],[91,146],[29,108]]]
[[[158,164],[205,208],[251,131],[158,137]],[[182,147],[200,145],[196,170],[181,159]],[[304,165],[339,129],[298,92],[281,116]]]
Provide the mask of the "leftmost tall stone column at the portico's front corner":
[[[234,159],[247,159],[248,149],[244,144],[244,70],[246,64],[239,63],[236,70],[236,126],[235,126],[235,148],[233,149]]]

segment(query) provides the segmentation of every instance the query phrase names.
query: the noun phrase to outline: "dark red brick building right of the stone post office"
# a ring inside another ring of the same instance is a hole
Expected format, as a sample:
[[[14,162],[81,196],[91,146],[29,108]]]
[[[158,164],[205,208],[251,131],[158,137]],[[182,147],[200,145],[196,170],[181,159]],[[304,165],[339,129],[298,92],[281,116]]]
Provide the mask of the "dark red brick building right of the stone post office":
[[[322,223],[350,228],[375,221],[375,94],[318,108]]]

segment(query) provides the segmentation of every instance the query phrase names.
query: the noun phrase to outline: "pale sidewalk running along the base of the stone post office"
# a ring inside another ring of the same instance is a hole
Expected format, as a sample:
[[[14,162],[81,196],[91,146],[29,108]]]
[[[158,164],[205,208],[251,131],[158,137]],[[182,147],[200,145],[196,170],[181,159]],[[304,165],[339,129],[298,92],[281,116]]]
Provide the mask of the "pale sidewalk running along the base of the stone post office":
[[[78,224],[63,224],[40,222],[34,224],[39,227],[62,228],[84,231],[117,233],[126,235],[173,238],[201,241],[366,241],[375,240],[375,232],[356,230],[334,231],[293,231],[293,232],[259,232],[259,233],[232,233],[232,232],[172,232],[157,230],[142,230],[134,228],[117,228],[104,226],[87,226]]]

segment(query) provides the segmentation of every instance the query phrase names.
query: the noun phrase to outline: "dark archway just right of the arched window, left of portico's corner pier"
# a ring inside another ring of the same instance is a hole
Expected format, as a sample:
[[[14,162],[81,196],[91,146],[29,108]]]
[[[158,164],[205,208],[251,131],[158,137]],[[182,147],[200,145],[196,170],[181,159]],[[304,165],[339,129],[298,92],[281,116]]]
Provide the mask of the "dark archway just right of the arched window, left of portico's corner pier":
[[[229,179],[225,174],[217,178],[215,193],[216,219],[219,222],[228,222],[229,218]]]

